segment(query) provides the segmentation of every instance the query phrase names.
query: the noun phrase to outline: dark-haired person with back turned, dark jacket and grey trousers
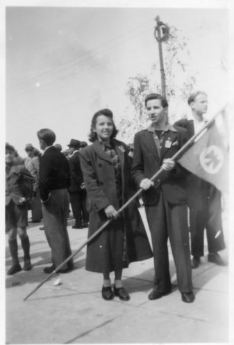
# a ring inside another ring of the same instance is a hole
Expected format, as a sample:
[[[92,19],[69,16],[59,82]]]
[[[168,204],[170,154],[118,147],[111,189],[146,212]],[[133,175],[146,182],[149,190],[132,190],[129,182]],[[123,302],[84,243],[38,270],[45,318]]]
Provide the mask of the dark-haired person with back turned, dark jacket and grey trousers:
[[[37,137],[40,148],[44,151],[40,157],[39,188],[44,232],[51,248],[53,262],[52,266],[44,268],[44,273],[51,273],[72,253],[67,233],[69,163],[53,146],[56,134],[51,129],[40,129]],[[59,272],[66,273],[72,268],[71,259]]]

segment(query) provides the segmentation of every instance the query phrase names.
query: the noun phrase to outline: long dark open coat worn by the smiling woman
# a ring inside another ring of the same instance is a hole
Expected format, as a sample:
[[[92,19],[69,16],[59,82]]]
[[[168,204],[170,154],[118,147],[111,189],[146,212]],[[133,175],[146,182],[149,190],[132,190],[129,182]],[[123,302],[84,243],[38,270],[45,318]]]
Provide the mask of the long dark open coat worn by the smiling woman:
[[[135,193],[128,147],[115,139],[112,143],[122,168],[122,200],[125,203]],[[87,195],[91,202],[88,232],[88,237],[90,237],[106,222],[104,209],[110,204],[115,209],[119,209],[121,205],[117,200],[114,166],[99,141],[95,141],[81,151],[81,168]],[[113,220],[87,246],[86,269],[94,272],[110,272],[127,267],[129,262],[149,257],[152,257],[152,252],[147,234],[137,210],[137,204],[133,202],[122,213],[119,220]]]

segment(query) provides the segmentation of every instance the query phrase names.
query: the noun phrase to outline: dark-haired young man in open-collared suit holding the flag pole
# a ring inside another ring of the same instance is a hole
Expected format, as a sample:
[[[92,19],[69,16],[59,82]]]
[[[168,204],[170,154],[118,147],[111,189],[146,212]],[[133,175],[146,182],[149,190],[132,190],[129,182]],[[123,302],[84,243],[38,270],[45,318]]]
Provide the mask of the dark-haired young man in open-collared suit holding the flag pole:
[[[144,189],[144,205],[153,242],[155,278],[149,299],[165,296],[172,289],[167,248],[169,237],[178,289],[183,302],[191,303],[194,294],[187,230],[186,172],[171,159],[187,141],[187,131],[169,125],[167,100],[161,95],[148,95],[145,106],[151,125],[135,134],[133,177]],[[150,177],[160,168],[164,172],[151,182]]]

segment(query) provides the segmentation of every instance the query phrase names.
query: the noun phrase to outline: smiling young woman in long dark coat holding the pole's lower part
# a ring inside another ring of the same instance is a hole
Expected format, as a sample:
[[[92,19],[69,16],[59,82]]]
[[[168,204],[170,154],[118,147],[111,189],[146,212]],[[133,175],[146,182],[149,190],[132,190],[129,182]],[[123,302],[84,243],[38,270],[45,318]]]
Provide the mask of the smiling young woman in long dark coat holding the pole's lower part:
[[[108,218],[113,219],[87,246],[86,269],[103,273],[104,299],[111,300],[116,295],[129,300],[122,286],[122,269],[129,262],[152,257],[152,252],[136,203],[117,217],[117,210],[135,193],[135,186],[131,181],[128,147],[115,139],[116,134],[112,112],[98,111],[92,118],[93,144],[81,151],[81,168],[90,199],[88,237]],[[110,282],[112,271],[115,271],[114,291]]]

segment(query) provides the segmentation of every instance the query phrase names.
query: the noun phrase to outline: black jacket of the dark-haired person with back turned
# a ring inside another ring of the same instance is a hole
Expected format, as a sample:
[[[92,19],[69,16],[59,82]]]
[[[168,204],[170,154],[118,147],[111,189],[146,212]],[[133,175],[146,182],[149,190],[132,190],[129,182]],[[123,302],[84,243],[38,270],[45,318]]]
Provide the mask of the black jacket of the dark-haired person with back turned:
[[[39,189],[42,201],[49,198],[50,191],[68,188],[70,183],[69,163],[56,147],[49,147],[40,157]]]

